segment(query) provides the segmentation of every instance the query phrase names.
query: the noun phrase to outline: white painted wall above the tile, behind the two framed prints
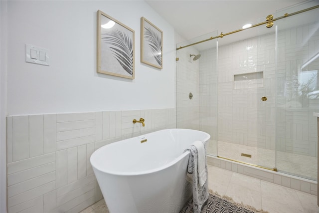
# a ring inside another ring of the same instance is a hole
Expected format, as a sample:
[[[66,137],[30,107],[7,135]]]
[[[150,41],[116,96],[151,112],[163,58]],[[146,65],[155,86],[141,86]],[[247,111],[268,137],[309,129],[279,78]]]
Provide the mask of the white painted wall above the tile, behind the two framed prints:
[[[8,1],[7,114],[175,106],[174,30],[145,1]],[[135,30],[135,80],[97,74],[96,11]],[[141,17],[163,31],[163,69],[140,62]],[[25,62],[25,43],[50,66]]]

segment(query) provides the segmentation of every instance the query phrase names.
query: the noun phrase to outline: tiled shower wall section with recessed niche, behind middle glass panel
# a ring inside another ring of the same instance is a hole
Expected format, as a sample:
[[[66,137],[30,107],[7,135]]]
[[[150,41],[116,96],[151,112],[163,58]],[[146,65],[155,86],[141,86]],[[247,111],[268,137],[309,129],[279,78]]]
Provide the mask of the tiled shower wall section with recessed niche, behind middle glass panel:
[[[275,149],[274,47],[274,34],[219,47],[218,140]],[[234,75],[261,71],[264,87],[252,80],[235,88]]]

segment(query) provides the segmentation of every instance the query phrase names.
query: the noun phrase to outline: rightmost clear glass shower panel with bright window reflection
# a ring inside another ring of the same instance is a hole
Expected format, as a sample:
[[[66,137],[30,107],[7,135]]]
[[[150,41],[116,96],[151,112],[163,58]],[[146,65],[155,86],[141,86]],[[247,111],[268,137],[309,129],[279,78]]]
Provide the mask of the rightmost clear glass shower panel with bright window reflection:
[[[277,17],[318,5],[307,2]],[[277,20],[276,167],[317,180],[319,112],[319,8]]]

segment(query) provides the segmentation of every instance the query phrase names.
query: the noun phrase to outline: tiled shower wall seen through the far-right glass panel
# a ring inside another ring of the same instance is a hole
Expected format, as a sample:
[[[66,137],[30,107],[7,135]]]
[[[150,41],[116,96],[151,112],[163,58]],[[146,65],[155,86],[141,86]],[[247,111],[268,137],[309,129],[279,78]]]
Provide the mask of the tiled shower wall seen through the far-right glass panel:
[[[319,58],[303,71],[300,67],[319,53],[319,29],[317,23],[293,29],[279,30],[278,33],[278,99],[277,141],[278,150],[317,157],[317,128],[314,112],[319,110],[319,99],[309,99],[300,89],[304,83],[304,71],[317,70],[319,89]],[[312,87],[312,86],[311,86]],[[309,87],[306,93],[312,91]]]

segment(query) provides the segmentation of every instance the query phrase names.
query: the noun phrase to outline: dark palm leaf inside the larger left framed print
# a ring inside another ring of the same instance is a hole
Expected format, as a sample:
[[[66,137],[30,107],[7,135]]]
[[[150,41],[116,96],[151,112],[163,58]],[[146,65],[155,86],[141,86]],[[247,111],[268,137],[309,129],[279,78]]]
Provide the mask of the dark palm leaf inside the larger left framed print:
[[[110,44],[110,49],[115,59],[122,68],[133,75],[133,40],[126,33],[115,29],[102,33],[104,42]]]

